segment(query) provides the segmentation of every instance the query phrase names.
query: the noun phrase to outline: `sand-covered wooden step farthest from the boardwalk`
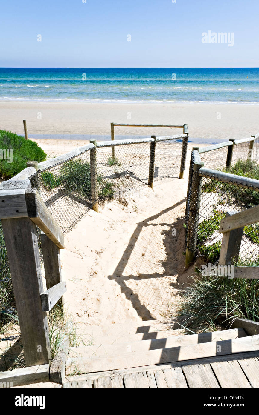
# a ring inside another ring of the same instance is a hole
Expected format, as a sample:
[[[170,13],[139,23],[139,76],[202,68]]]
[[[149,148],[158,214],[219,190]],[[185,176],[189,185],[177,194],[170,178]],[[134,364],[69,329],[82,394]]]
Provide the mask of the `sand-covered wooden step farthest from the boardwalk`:
[[[183,318],[167,318],[161,320],[147,320],[142,321],[139,324],[113,324],[113,325],[104,325],[104,326],[88,326],[84,328],[84,332],[81,335],[92,337],[95,339],[96,337],[102,335],[117,335],[125,336],[126,334],[138,334],[138,333],[152,333],[152,332],[160,332],[160,331],[167,331],[167,330],[177,330],[177,329],[184,329],[183,324],[181,321]]]

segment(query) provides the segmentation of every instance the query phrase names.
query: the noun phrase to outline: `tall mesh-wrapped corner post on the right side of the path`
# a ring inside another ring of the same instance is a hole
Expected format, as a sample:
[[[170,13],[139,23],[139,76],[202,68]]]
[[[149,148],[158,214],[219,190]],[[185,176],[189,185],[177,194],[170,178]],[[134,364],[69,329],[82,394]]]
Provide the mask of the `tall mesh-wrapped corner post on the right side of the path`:
[[[195,161],[192,171],[192,184],[190,194],[190,212],[188,218],[187,228],[187,248],[185,257],[185,266],[188,267],[194,258],[195,249],[197,244],[197,234],[199,225],[200,214],[200,198],[202,193],[202,177],[199,176],[199,170],[204,166],[204,163],[200,160],[200,156],[197,150],[193,151],[195,155]]]

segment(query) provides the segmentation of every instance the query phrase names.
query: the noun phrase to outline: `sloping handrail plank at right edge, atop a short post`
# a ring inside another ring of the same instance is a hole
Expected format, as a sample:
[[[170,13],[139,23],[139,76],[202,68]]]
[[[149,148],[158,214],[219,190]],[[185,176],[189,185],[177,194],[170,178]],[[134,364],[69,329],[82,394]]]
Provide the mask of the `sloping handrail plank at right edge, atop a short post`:
[[[252,223],[259,222],[259,205],[237,212],[232,216],[224,217],[220,221],[219,232],[229,232]]]

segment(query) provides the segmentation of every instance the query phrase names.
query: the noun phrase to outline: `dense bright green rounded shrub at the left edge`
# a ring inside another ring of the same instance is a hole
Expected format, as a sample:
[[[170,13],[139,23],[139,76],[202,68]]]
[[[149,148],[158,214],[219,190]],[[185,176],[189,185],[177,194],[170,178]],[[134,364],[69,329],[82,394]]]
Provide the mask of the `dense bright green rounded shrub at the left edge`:
[[[46,154],[35,141],[5,130],[0,130],[0,149],[13,151],[12,163],[0,160],[0,175],[7,179],[26,168],[28,160],[40,162],[46,159]]]

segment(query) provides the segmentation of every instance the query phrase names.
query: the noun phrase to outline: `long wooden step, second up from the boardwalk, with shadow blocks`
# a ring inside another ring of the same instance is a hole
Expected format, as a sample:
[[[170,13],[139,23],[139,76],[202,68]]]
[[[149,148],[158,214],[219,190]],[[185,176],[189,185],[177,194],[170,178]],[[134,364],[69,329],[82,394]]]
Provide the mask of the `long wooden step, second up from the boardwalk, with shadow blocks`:
[[[91,357],[91,356],[112,356],[129,352],[141,352],[154,349],[164,349],[168,347],[183,346],[187,344],[199,344],[217,342],[219,340],[229,340],[246,337],[244,329],[222,330],[213,333],[200,333],[185,336],[171,336],[162,339],[143,340],[126,343],[97,344],[88,347],[71,347],[69,356]]]

